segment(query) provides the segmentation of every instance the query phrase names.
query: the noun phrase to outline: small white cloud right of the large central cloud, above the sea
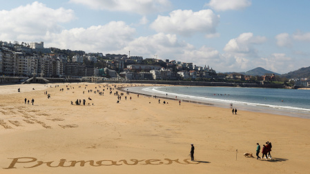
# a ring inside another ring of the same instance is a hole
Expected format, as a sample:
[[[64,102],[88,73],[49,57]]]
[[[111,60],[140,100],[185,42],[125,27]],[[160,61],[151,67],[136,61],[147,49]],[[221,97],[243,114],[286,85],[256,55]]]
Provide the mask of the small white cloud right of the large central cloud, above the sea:
[[[224,51],[247,54],[255,52],[253,44],[261,44],[265,41],[267,41],[266,37],[254,37],[252,32],[245,32],[242,33],[239,37],[231,39],[224,47]]]

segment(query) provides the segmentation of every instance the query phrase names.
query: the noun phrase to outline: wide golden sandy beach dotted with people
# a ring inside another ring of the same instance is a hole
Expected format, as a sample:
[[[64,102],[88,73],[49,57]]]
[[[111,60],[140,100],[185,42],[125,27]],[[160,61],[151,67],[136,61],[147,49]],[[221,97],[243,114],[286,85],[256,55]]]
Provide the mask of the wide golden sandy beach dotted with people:
[[[0,86],[0,173],[309,173],[310,119],[131,93],[125,100],[122,91],[117,104],[106,84],[66,85]],[[71,105],[76,99],[87,106]],[[273,160],[243,156],[267,141]],[[192,143],[196,162],[186,160]]]

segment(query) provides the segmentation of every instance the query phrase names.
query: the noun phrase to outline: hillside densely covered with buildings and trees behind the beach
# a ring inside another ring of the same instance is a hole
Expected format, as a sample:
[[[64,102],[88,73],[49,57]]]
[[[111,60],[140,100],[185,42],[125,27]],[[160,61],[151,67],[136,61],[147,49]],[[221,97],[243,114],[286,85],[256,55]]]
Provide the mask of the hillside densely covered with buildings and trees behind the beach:
[[[244,75],[217,73],[209,65],[141,56],[115,55],[82,50],[44,48],[44,43],[8,43],[0,41],[0,75],[19,77],[82,78],[125,80],[183,80],[238,83],[289,82],[274,74]],[[298,81],[291,81],[294,84]],[[288,84],[288,85],[291,85]],[[303,86],[308,86],[303,83]]]

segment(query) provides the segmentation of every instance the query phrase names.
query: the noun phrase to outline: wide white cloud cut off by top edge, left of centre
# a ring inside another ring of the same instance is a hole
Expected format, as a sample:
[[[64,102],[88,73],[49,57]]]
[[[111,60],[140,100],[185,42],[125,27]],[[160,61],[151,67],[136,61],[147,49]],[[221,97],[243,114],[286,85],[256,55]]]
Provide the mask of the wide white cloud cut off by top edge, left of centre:
[[[171,6],[168,0],[70,0],[71,3],[80,3],[95,10],[110,10],[149,14],[161,12]]]

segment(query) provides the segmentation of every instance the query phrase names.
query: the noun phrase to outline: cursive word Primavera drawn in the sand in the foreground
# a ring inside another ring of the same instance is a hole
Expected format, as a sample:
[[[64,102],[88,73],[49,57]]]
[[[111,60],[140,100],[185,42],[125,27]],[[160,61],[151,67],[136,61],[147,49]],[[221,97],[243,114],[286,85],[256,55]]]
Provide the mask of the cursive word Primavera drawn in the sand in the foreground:
[[[80,160],[80,161],[67,161],[65,159],[61,159],[59,160],[59,162],[43,162],[43,161],[37,161],[37,158],[35,157],[17,157],[17,158],[9,158],[12,159],[12,162],[10,163],[10,165],[7,168],[4,169],[11,169],[11,168],[17,168],[15,165],[17,164],[26,164],[26,163],[30,163],[32,164],[32,166],[23,166],[23,168],[35,168],[37,166],[41,166],[43,164],[43,166],[48,166],[48,167],[75,167],[76,164],[79,164],[79,166],[85,166],[87,164],[87,166],[122,166],[123,164],[125,165],[129,165],[129,166],[135,166],[137,164],[140,165],[160,165],[160,164],[200,164],[201,162],[199,161],[195,161],[195,162],[188,162],[188,160],[190,159],[185,159],[183,160],[183,162],[179,161],[179,159],[176,160],[170,160],[168,158],[165,158],[164,160],[136,160],[136,159],[131,159],[127,162],[127,160],[119,160],[117,161],[113,161],[113,160],[99,160],[97,162],[95,162],[94,160],[89,160],[89,161],[84,161],[84,160]]]

